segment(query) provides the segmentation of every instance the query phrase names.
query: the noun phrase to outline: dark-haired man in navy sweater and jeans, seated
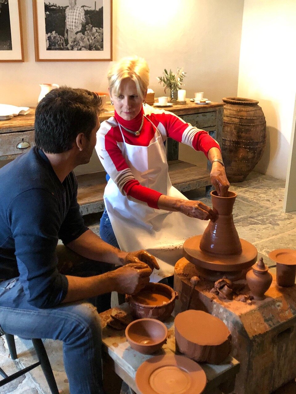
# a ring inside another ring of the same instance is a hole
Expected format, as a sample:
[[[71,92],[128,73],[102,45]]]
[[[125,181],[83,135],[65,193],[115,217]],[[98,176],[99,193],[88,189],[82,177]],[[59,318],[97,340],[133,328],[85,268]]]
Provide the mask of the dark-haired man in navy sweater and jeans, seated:
[[[62,340],[71,394],[103,392],[105,294],[133,294],[157,268],[146,251],[103,242],[79,213],[73,169],[90,161],[100,103],[84,89],[53,89],[36,108],[36,146],[0,169],[0,324],[22,338]],[[97,309],[84,301],[94,298]]]

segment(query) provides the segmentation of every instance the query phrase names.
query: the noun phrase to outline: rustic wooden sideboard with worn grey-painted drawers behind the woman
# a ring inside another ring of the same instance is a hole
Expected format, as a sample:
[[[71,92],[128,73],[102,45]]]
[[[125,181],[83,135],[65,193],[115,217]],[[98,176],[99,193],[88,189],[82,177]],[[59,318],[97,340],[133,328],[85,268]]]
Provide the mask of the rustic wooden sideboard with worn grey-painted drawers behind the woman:
[[[114,108],[106,103],[100,121],[112,116]],[[185,122],[209,132],[221,145],[223,126],[223,103],[198,105],[187,99],[185,105],[174,104],[169,108]],[[0,160],[14,159],[34,145],[35,110],[27,115],[19,115],[9,121],[0,122]],[[167,140],[167,159],[169,175],[173,186],[184,192],[202,186],[210,187],[209,168],[201,169],[196,165],[178,160],[178,142]],[[208,166],[209,167],[209,166]],[[83,215],[100,212],[104,209],[103,193],[106,185],[105,171],[78,175],[78,202]]]

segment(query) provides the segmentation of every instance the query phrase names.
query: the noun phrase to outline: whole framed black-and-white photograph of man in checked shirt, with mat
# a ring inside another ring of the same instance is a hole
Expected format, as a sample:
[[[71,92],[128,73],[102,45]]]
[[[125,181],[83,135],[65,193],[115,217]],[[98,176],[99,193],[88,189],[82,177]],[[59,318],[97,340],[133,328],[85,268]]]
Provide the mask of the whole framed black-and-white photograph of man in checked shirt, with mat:
[[[112,60],[112,0],[33,0],[33,11],[36,61]]]

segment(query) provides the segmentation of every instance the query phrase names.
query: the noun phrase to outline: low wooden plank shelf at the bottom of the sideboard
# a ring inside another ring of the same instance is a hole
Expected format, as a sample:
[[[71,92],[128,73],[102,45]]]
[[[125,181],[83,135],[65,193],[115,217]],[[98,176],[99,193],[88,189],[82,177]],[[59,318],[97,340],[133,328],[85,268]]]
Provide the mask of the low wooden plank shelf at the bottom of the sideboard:
[[[201,188],[210,184],[210,174],[194,164],[175,160],[169,163],[172,185],[181,192]],[[106,182],[105,171],[78,175],[77,201],[82,215],[104,210],[103,195]]]

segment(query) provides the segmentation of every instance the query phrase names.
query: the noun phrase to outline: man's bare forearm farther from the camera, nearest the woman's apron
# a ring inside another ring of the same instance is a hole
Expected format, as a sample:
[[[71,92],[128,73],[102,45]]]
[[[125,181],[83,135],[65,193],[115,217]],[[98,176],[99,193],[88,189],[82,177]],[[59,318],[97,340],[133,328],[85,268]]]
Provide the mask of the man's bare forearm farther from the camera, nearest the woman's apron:
[[[124,262],[127,253],[101,240],[92,230],[87,230],[79,238],[67,244],[79,255],[96,261],[104,261],[110,264]]]

